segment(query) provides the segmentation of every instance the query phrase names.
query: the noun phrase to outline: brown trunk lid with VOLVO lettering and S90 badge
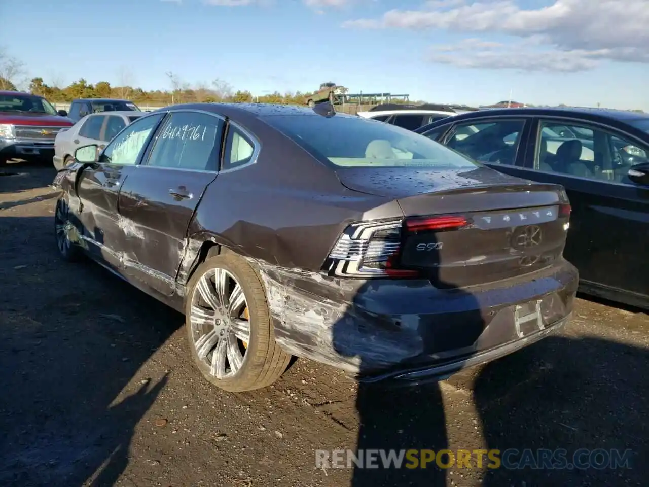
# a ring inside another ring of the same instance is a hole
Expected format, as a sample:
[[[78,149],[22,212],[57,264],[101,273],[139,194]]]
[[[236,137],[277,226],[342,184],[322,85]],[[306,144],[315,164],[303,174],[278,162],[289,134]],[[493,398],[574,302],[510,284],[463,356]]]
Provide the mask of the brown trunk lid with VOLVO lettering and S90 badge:
[[[489,168],[361,171],[344,169],[339,178],[352,190],[396,199],[406,216],[393,264],[439,288],[512,279],[562,258],[570,206],[559,185]]]

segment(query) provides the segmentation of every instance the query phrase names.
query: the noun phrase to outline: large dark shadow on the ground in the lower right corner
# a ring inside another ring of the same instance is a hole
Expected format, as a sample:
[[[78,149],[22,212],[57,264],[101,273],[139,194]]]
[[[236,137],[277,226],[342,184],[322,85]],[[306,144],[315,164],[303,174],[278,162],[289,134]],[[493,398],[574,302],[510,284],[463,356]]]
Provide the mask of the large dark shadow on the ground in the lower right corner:
[[[483,485],[646,484],[648,363],[641,347],[557,335],[487,364],[473,399],[502,464]]]

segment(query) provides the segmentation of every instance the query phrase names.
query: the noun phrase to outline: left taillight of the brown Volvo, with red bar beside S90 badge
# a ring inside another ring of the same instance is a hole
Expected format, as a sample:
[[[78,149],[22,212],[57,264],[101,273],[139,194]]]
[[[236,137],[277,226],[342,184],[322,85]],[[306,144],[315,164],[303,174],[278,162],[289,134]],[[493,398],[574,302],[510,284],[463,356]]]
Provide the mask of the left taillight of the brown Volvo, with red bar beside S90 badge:
[[[419,270],[400,266],[404,237],[468,225],[469,221],[461,216],[354,223],[337,240],[324,268],[337,277],[419,277]]]

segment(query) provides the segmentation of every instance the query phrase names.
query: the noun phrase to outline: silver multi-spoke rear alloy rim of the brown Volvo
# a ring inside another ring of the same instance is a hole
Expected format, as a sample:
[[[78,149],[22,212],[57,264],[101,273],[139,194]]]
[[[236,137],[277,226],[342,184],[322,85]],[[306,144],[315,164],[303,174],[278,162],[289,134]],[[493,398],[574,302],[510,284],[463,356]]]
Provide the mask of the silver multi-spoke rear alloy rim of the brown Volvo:
[[[241,369],[250,341],[248,303],[243,288],[225,269],[206,271],[191,296],[192,345],[217,379]]]

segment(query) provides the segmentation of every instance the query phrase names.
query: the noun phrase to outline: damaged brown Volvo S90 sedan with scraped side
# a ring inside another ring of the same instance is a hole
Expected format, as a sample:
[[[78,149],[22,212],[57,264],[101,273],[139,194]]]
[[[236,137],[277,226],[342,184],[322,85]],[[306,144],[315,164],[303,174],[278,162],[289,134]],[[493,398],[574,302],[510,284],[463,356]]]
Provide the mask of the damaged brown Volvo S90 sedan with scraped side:
[[[271,384],[291,356],[437,380],[572,312],[561,186],[330,105],[171,106],[75,158],[54,183],[61,255],[184,312],[226,390]]]

